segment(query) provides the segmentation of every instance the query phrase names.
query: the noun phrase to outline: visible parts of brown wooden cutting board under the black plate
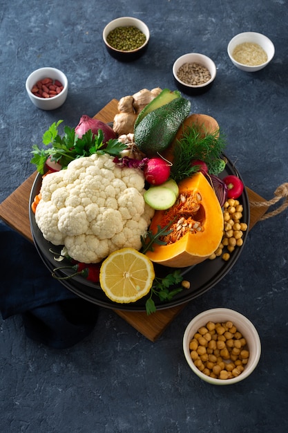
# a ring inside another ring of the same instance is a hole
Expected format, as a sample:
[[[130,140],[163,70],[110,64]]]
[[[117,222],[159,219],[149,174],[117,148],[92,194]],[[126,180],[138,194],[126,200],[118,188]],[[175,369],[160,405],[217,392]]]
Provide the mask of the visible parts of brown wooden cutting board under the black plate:
[[[94,117],[102,122],[113,122],[115,113],[117,113],[117,100],[112,100]],[[3,219],[10,227],[19,232],[29,241],[33,241],[30,230],[29,220],[29,198],[30,191],[37,173],[33,173],[25,182],[23,182],[15,192],[12,192],[6,200],[0,204],[0,218]],[[247,188],[249,201],[262,202],[261,196]],[[263,214],[267,211],[265,207],[250,206],[250,225],[249,230],[255,225]],[[186,304],[167,308],[166,310],[156,311],[150,316],[145,312],[129,312],[115,310],[115,313],[122,317],[128,324],[131,324],[137,331],[142,333],[148,340],[155,341],[166,329],[177,314],[182,311]]]

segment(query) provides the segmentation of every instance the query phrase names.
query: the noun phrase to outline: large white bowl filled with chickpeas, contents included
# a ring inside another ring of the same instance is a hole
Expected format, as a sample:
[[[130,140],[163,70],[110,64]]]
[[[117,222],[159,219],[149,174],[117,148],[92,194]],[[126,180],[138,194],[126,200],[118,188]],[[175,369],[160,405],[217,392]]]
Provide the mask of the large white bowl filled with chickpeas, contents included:
[[[247,317],[229,308],[213,308],[191,320],[183,350],[189,367],[202,380],[232,385],[256,368],[261,344]]]

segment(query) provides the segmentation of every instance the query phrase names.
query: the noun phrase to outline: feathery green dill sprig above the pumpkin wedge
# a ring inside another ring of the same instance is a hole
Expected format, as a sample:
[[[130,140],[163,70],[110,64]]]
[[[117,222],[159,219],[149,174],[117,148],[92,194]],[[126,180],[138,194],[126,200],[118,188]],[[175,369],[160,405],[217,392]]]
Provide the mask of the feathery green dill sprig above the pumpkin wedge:
[[[220,129],[203,136],[203,132],[197,126],[187,127],[182,138],[175,142],[171,177],[178,183],[198,172],[197,165],[191,166],[192,160],[202,160],[208,167],[213,166],[215,161],[220,159],[226,145]]]

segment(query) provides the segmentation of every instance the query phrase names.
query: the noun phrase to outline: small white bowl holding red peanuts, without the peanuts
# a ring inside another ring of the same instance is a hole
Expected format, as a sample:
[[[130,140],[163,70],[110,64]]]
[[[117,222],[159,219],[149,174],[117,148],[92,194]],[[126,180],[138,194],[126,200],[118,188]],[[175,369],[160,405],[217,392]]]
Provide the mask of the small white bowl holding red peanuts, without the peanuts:
[[[34,93],[32,93],[32,87],[39,81],[44,80],[44,78],[52,78],[52,80],[59,80],[63,84],[64,89],[58,95],[52,98],[39,98]],[[68,80],[66,75],[56,68],[40,68],[36,71],[30,73],[26,80],[26,91],[30,100],[37,108],[41,110],[55,110],[64,104],[68,94]]]

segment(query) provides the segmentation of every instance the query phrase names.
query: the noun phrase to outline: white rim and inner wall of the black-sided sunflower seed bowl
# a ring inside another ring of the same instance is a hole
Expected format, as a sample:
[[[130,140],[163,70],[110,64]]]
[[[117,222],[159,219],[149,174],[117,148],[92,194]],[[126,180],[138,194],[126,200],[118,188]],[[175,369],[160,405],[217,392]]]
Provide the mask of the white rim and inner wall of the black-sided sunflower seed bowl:
[[[204,84],[198,84],[197,86],[193,86],[192,84],[187,84],[187,83],[183,82],[182,80],[180,80],[180,78],[177,77],[177,71],[184,63],[202,64],[203,66],[205,66],[209,70],[209,72],[211,74],[210,80],[205,82]],[[209,86],[209,84],[211,84],[211,82],[213,82],[213,80],[215,80],[215,76],[216,76],[216,66],[215,66],[215,63],[213,62],[213,60],[210,59],[210,57],[207,57],[207,55],[200,54],[200,53],[187,53],[187,54],[182,55],[181,57],[178,57],[178,59],[175,60],[175,62],[173,64],[172,71],[173,71],[173,75],[174,75],[175,80],[177,82],[179,82],[182,86],[186,86],[190,89],[201,89],[203,87]]]

